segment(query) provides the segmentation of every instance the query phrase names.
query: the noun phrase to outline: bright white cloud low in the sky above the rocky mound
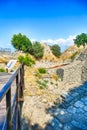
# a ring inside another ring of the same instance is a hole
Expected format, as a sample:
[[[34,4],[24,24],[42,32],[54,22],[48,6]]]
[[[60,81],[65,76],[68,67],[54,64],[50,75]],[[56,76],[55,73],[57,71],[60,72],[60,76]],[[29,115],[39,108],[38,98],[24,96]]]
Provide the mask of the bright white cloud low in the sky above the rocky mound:
[[[41,42],[45,42],[49,45],[58,44],[61,47],[61,50],[65,50],[67,47],[74,44],[73,39],[75,36],[69,36],[68,38],[58,38],[58,39],[48,39],[48,40],[42,40]]]

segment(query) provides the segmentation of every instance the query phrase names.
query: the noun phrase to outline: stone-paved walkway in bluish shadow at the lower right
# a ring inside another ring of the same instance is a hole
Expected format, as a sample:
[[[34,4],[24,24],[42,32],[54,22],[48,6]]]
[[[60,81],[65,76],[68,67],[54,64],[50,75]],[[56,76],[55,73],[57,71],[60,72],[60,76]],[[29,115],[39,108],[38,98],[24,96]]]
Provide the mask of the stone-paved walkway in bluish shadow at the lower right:
[[[87,82],[61,96],[61,104],[47,109],[53,119],[45,130],[87,130]]]

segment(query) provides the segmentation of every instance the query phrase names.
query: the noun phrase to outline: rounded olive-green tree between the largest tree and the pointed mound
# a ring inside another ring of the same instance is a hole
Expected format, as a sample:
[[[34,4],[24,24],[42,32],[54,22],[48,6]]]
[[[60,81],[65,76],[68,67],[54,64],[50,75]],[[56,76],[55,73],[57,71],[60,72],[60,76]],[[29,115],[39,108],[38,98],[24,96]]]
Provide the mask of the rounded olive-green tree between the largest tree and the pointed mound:
[[[39,59],[43,57],[44,47],[39,42],[34,42],[32,45],[33,55],[35,58]]]

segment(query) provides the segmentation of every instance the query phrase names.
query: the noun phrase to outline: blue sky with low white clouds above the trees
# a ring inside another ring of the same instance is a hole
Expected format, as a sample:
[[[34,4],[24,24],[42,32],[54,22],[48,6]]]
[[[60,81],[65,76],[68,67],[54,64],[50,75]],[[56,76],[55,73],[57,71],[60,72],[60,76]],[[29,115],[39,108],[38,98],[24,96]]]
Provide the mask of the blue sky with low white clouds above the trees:
[[[13,34],[22,33],[63,51],[87,33],[86,6],[86,0],[0,0],[0,47],[12,48]]]

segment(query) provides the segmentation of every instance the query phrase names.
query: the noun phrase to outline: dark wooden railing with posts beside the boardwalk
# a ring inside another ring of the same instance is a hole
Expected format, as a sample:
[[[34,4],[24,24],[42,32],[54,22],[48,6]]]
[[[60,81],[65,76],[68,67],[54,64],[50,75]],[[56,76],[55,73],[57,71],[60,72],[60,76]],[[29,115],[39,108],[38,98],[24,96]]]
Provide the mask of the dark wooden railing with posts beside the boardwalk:
[[[13,102],[11,102],[11,88],[14,80],[16,82],[16,92],[14,94]],[[3,123],[3,130],[21,130],[21,110],[24,101],[23,89],[24,65],[21,64],[0,91],[0,102],[6,96],[6,120]]]

